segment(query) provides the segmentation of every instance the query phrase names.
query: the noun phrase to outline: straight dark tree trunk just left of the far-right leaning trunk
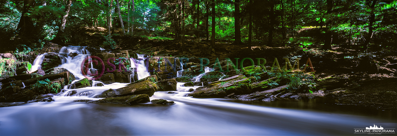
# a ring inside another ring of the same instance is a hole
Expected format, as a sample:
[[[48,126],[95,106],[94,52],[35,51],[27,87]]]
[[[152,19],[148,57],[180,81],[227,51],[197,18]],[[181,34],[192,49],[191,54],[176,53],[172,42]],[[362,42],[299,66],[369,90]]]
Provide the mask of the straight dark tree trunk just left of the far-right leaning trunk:
[[[332,41],[332,32],[331,32],[331,24],[332,24],[332,8],[333,8],[333,0],[327,0],[327,21],[326,21],[326,33],[325,33],[325,42],[323,49],[331,50],[331,41]]]

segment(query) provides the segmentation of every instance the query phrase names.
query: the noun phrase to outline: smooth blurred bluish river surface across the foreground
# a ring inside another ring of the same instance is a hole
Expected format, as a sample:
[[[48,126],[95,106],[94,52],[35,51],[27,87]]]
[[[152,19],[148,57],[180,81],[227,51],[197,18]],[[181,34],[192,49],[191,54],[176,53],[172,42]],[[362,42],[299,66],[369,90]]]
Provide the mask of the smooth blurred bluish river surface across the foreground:
[[[178,94],[176,94],[178,93]],[[173,105],[55,102],[0,108],[1,136],[362,135],[354,128],[396,128],[396,112],[328,100],[240,101],[155,92]],[[326,102],[327,101],[327,102]],[[385,134],[382,134],[385,135]],[[387,135],[387,134],[386,134]],[[392,134],[395,135],[395,134]]]

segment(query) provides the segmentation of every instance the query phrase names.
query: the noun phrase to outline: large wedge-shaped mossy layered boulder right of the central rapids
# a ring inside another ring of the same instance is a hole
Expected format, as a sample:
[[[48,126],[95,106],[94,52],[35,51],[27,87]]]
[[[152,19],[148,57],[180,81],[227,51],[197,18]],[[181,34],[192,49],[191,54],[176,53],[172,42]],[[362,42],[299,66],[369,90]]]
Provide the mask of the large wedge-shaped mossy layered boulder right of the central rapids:
[[[251,81],[244,75],[235,75],[223,80],[212,82],[207,86],[198,87],[192,94],[194,98],[223,98],[229,94],[241,95],[252,92]]]

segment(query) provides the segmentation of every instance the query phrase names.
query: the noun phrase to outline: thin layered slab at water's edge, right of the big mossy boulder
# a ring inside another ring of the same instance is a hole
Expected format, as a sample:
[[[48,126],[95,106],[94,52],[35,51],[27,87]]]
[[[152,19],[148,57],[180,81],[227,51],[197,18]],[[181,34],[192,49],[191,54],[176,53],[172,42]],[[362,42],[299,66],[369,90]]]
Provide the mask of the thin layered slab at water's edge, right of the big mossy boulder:
[[[284,93],[285,90],[287,90],[288,85],[280,86],[274,89],[269,89],[266,91],[262,92],[256,92],[252,94],[247,94],[247,95],[240,95],[237,96],[237,99],[239,100],[262,100],[262,101],[267,101],[267,100],[273,100],[269,98],[277,97],[279,94]],[[274,95],[277,94],[277,95]],[[274,96],[273,96],[274,95]]]

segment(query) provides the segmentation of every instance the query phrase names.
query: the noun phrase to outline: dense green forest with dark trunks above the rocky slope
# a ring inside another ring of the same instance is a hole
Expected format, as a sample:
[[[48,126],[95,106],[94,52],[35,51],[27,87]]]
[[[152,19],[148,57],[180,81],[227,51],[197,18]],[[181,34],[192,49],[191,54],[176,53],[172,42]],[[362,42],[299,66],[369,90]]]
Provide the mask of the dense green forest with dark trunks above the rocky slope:
[[[0,1],[1,52],[27,53],[43,42],[87,46],[75,32],[197,39],[252,46],[395,50],[397,0],[8,0]],[[182,42],[184,48],[184,42]]]

